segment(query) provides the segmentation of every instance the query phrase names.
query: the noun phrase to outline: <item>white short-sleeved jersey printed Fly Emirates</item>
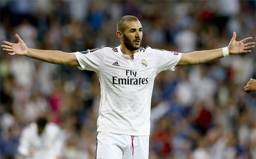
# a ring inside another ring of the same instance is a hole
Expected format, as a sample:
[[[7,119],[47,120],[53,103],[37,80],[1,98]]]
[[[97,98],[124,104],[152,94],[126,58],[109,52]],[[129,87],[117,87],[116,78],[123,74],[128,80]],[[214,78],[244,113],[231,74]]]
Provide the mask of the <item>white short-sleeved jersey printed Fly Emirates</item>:
[[[133,59],[116,48],[102,46],[75,52],[81,67],[95,71],[101,84],[97,131],[150,135],[150,106],[154,79],[175,70],[181,53],[140,47]]]

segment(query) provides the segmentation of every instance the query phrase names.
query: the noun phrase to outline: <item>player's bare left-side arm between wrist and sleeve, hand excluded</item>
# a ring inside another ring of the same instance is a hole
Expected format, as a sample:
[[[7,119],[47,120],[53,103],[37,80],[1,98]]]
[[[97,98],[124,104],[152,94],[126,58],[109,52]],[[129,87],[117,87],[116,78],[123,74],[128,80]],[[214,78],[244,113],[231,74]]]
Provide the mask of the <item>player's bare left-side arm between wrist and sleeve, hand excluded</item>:
[[[52,50],[39,50],[39,49],[31,49],[27,48],[26,56],[45,61],[53,64],[61,64],[61,65],[77,65],[76,59],[71,61],[69,59],[70,56],[75,56],[73,53],[67,53],[62,51],[52,51]],[[73,58],[74,59],[74,58]]]

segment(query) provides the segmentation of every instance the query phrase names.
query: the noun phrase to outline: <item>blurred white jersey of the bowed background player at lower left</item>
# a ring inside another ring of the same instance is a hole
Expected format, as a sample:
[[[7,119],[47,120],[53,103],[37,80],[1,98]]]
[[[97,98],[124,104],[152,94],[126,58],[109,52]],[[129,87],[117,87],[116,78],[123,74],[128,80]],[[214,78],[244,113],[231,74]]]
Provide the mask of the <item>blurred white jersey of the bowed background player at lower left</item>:
[[[57,124],[47,123],[38,135],[37,124],[31,123],[21,133],[18,152],[31,159],[56,159],[61,156],[63,143],[64,133]]]

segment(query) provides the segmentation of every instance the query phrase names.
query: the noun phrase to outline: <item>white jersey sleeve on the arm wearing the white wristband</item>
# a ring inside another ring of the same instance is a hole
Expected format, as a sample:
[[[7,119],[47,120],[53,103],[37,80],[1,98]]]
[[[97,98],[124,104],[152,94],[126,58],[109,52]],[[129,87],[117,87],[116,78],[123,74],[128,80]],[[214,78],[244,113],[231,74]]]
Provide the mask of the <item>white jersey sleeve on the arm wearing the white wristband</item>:
[[[180,61],[181,53],[176,51],[166,51],[164,49],[153,49],[158,73],[165,70],[174,71]]]

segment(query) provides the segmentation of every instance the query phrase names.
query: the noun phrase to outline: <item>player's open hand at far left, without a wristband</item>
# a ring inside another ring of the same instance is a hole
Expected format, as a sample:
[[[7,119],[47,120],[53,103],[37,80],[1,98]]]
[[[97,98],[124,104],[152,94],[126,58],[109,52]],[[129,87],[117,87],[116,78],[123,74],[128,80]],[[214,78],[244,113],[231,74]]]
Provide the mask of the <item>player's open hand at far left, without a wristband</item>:
[[[7,45],[1,45],[1,47],[3,48],[4,51],[8,51],[9,55],[26,55],[27,45],[24,43],[22,39],[20,39],[18,34],[16,34],[15,37],[19,41],[19,43],[14,44],[8,41],[3,41],[3,43]]]

